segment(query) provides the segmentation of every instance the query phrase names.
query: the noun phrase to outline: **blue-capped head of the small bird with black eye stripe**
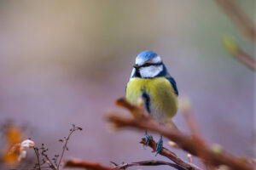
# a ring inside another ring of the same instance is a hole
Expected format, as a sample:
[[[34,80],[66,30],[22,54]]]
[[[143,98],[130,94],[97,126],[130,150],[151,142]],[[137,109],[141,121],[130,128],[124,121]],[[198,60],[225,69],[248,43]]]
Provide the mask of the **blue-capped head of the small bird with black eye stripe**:
[[[160,56],[148,50],[137,55],[133,68],[131,77],[154,78],[166,74],[166,66]]]

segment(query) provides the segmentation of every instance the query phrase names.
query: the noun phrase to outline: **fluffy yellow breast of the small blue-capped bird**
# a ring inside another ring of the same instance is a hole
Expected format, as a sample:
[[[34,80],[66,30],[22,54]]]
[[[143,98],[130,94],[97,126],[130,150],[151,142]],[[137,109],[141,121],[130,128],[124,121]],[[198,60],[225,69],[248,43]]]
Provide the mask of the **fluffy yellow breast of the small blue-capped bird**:
[[[172,84],[165,77],[131,78],[126,87],[126,99],[137,104],[137,99],[146,92],[150,97],[152,115],[160,122],[167,122],[168,118],[177,112],[177,95]],[[151,112],[151,111],[150,111]]]

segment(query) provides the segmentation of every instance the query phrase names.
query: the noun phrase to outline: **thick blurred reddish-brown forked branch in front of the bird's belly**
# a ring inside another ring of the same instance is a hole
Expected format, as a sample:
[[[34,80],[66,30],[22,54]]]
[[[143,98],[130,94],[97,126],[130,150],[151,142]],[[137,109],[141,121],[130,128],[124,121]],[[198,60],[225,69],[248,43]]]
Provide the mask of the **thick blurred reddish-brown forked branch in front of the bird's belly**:
[[[189,136],[178,132],[173,127],[160,125],[160,123],[147,116],[146,112],[142,109],[142,105],[131,105],[125,99],[118,99],[116,104],[131,111],[132,115],[136,115],[131,117],[124,116],[119,112],[112,111],[109,113],[107,117],[108,121],[112,122],[114,127],[117,129],[120,127],[134,127],[137,129],[148,129],[160,133],[175,142],[183,150],[188,151],[194,156],[200,157],[204,162],[207,162],[207,164],[212,165],[213,167],[227,165],[231,169],[236,170],[252,170],[255,168],[247,159],[241,159],[237,156],[233,156],[221,147],[217,147],[217,145],[211,148],[207,144],[201,144],[201,142],[199,142],[201,139],[198,139],[195,136]]]

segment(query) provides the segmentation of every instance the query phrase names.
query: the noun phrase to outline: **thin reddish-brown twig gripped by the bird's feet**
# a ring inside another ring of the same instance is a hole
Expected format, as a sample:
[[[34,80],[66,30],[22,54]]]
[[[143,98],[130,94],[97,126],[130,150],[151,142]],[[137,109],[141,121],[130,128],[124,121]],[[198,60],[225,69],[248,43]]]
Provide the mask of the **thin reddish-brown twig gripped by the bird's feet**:
[[[141,144],[146,144],[145,139],[142,139],[142,141],[140,142]],[[150,139],[148,146],[151,147],[153,149],[153,151],[156,150],[156,142],[154,141],[154,139]],[[167,158],[169,158],[170,160],[172,160],[174,163],[176,163],[177,165],[184,167],[185,169],[190,169],[190,170],[201,170],[200,167],[196,167],[194,164],[183,161],[181,158],[179,158],[175,153],[173,153],[171,150],[167,150],[166,148],[163,147],[162,150],[160,150],[159,153],[161,156],[166,156]]]

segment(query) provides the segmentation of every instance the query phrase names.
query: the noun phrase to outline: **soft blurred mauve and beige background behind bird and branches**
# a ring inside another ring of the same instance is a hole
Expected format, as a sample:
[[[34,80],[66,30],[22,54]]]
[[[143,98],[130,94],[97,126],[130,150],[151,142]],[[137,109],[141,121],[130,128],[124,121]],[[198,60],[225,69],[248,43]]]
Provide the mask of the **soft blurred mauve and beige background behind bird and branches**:
[[[238,3],[255,18],[255,1]],[[84,130],[74,133],[66,159],[155,159],[138,144],[143,132],[109,133],[104,120],[125,96],[137,54],[149,49],[166,63],[180,96],[191,99],[207,141],[253,156],[254,75],[230,57],[225,35],[253,55],[253,43],[213,0],[2,0],[0,121],[26,125],[25,138],[47,144],[49,155],[60,152],[58,139],[76,124]],[[174,120],[189,132],[180,111]]]

